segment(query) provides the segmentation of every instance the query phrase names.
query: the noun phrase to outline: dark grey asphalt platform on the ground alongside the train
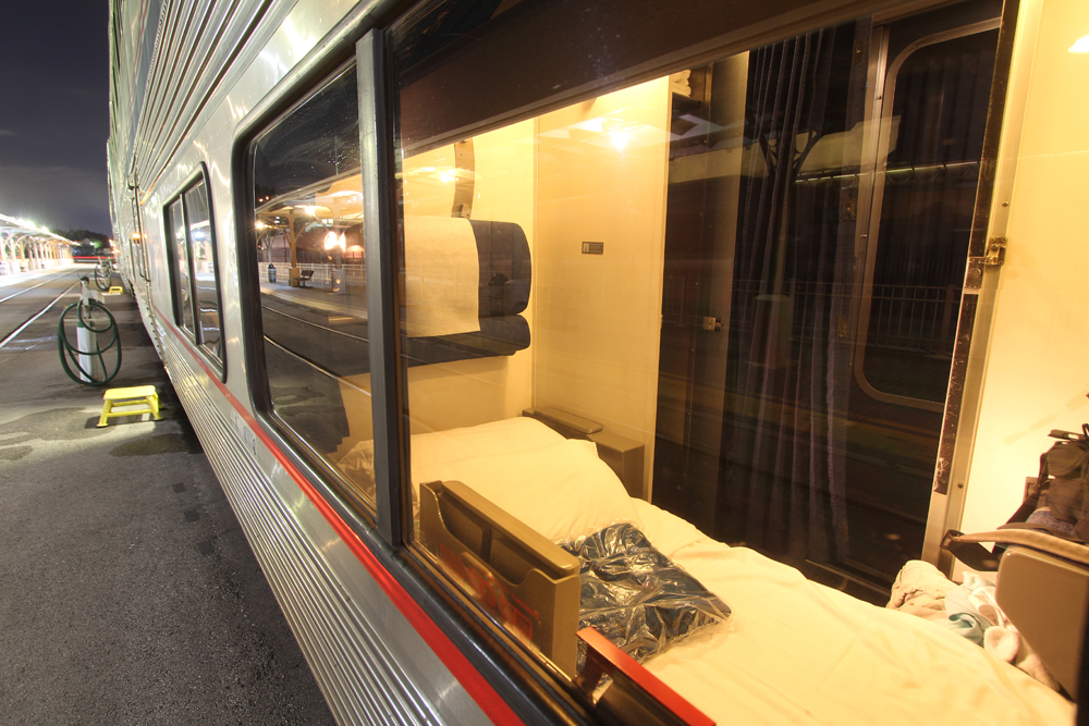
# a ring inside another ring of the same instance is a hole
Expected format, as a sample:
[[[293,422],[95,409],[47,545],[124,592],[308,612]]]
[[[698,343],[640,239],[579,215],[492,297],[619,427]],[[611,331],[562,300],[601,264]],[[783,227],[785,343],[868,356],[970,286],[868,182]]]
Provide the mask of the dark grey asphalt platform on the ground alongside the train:
[[[135,300],[103,303],[109,387],[156,386],[162,420],[97,426],[103,390],[61,369],[63,305],[0,349],[0,723],[332,724]]]

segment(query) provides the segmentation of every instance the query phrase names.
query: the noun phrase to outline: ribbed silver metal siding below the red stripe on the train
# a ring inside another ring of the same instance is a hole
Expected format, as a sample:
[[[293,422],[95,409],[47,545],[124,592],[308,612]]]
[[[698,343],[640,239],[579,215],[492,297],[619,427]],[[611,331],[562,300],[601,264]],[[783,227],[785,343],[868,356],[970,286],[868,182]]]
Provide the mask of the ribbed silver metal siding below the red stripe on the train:
[[[338,721],[481,723],[479,706],[299,489],[298,473],[268,455],[237,410],[218,410],[205,377],[188,373],[193,354],[176,331],[164,347],[179,398]]]

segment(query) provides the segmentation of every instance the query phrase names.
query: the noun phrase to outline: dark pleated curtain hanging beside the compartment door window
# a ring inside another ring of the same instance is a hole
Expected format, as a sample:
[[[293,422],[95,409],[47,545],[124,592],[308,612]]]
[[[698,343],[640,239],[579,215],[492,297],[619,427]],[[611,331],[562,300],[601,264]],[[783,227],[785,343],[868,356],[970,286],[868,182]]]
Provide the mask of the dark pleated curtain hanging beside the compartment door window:
[[[860,118],[854,37],[852,26],[824,29],[749,56],[715,530],[796,562],[847,555],[857,176],[802,169],[821,138]]]

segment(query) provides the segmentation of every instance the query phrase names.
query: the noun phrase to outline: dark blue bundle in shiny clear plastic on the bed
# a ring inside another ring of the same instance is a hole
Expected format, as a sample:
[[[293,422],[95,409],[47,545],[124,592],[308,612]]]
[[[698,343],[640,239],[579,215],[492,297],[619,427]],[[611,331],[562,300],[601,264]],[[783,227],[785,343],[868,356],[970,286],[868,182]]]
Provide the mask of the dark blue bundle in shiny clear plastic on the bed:
[[[722,600],[632,525],[612,525],[562,546],[582,562],[578,627],[596,628],[636,661],[730,616]],[[578,645],[582,667],[586,645]]]

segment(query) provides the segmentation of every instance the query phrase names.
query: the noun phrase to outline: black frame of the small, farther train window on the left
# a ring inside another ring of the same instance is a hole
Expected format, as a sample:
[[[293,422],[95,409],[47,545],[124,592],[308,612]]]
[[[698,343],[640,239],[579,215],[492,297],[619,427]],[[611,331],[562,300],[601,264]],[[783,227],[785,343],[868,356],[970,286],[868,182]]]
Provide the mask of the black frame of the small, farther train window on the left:
[[[208,206],[208,244],[211,247],[211,260],[213,264],[213,276],[216,283],[216,306],[219,313],[219,350],[220,356],[216,356],[211,349],[205,344],[204,327],[200,323],[200,305],[197,298],[197,285],[196,275],[194,273],[193,264],[193,235],[189,230],[189,210],[188,205],[185,201],[185,196],[195,189],[198,185],[204,184],[205,189],[205,204]],[[222,278],[220,275],[220,269],[222,266],[219,261],[219,242],[216,234],[216,214],[215,207],[212,205],[211,198],[211,187],[208,184],[208,170],[205,163],[201,161],[196,171],[189,174],[183,184],[178,187],[178,190],[167,198],[167,201],[162,205],[162,230],[163,230],[163,242],[167,248],[167,272],[170,280],[170,297],[171,297],[171,312],[173,317],[174,327],[182,332],[182,334],[188,340],[193,347],[200,354],[205,362],[207,362],[216,376],[221,382],[227,382],[227,344],[225,335],[223,333],[223,284]],[[193,329],[186,328],[182,320],[182,305],[183,299],[181,296],[181,280],[179,280],[180,268],[179,264],[181,260],[178,259],[178,239],[174,237],[174,230],[171,229],[170,217],[171,208],[175,205],[181,205],[182,213],[182,226],[185,233],[185,267],[188,273],[188,294],[189,294],[189,310],[193,316]]]

